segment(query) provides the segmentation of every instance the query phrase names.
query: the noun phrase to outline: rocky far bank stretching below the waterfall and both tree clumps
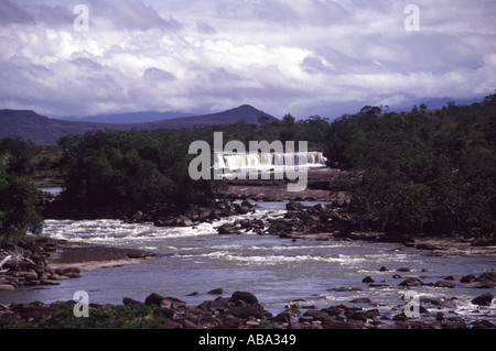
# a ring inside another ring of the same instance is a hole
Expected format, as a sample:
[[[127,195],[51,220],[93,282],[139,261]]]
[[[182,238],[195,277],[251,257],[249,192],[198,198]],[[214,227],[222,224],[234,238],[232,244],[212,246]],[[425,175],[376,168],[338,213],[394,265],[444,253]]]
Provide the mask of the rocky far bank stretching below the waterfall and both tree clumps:
[[[289,180],[235,179],[225,180],[225,190],[211,207],[194,207],[177,211],[166,205],[155,204],[150,208],[116,210],[93,208],[76,211],[66,208],[54,194],[42,193],[41,212],[45,219],[119,219],[128,223],[150,223],[155,227],[193,227],[201,222],[215,222],[236,215],[247,215],[256,210],[257,201],[284,201],[288,213],[284,219],[270,223],[259,233],[277,234],[288,239],[316,240],[365,240],[399,242],[419,249],[430,249],[441,255],[496,255],[496,233],[481,233],[477,228],[464,233],[425,237],[421,233],[373,232],[366,223],[355,220],[348,213],[351,197],[345,191],[332,191],[337,178],[347,175],[339,169],[313,169],[308,175],[304,191],[291,193]],[[303,206],[301,201],[320,201],[327,205]],[[234,223],[230,227],[239,227]],[[247,228],[245,228],[247,229]],[[248,228],[252,229],[252,228]],[[228,230],[225,233],[238,233]]]

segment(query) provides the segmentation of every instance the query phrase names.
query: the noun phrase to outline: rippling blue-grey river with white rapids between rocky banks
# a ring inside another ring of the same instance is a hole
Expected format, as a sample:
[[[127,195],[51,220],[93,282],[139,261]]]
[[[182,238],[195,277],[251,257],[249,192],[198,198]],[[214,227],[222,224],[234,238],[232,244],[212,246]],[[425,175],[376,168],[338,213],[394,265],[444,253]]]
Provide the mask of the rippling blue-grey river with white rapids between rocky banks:
[[[303,306],[323,308],[358,297],[368,297],[375,308],[387,311],[395,306],[405,306],[402,295],[407,290],[398,286],[402,279],[392,278],[400,267],[411,268],[407,274],[422,276],[425,283],[435,283],[448,275],[477,276],[496,266],[495,257],[435,256],[430,251],[397,243],[334,240],[293,242],[256,233],[217,233],[218,226],[237,218],[267,220],[284,213],[284,202],[259,205],[260,208],[254,213],[193,228],[158,228],[151,223],[129,224],[116,220],[47,220],[43,235],[144,249],[155,252],[157,257],[134,265],[83,272],[80,278],[60,281],[57,286],[0,292],[0,301],[68,300],[75,292],[86,290],[89,301],[97,304],[121,304],[123,297],[144,300],[151,293],[158,293],[196,305],[215,298],[207,292],[223,288],[228,296],[235,290],[251,292],[273,314],[298,299],[303,299],[299,301]],[[381,266],[388,271],[379,272]],[[382,284],[369,287],[362,283],[369,275]],[[475,296],[493,289],[470,289],[456,283],[454,289],[420,286],[413,290],[429,298],[456,297],[457,314],[467,318],[481,318],[483,315],[485,319],[496,322],[495,304],[483,308],[471,304]],[[342,287],[353,289],[335,290]],[[188,296],[194,292],[200,295]]]

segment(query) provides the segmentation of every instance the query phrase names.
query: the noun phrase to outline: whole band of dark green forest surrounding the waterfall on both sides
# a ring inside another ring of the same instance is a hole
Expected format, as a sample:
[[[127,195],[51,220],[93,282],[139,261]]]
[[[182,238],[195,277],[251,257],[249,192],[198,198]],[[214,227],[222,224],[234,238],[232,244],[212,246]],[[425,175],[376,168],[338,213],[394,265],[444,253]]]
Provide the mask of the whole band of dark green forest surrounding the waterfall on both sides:
[[[36,175],[57,175],[62,202],[136,210],[165,204],[176,210],[212,204],[224,183],[192,180],[196,140],[308,141],[330,166],[348,171],[334,189],[352,196],[349,213],[366,230],[451,234],[496,228],[496,94],[479,103],[448,102],[409,112],[366,106],[330,121],[319,116],[182,130],[99,131],[68,135],[52,149],[7,138],[0,141],[0,234],[39,233]],[[43,157],[40,153],[43,152]]]

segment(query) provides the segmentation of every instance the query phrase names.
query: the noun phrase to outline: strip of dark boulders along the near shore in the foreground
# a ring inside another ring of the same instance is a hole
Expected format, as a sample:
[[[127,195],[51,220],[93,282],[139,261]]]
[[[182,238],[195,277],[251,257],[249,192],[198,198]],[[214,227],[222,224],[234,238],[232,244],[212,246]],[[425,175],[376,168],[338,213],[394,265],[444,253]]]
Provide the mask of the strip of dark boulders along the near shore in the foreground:
[[[490,273],[494,277],[494,272]],[[222,289],[211,294],[222,294]],[[493,294],[474,298],[479,308],[489,306]],[[455,299],[422,299],[419,315],[409,318],[405,306],[381,312],[368,298],[353,299],[317,309],[294,301],[273,316],[263,303],[248,292],[218,296],[197,306],[153,293],[144,301],[129,297],[122,305],[87,306],[88,316],[74,315],[76,301],[53,304],[0,304],[0,328],[150,328],[150,329],[495,329],[494,320],[485,318],[467,322],[454,311]],[[77,308],[82,308],[80,305]]]

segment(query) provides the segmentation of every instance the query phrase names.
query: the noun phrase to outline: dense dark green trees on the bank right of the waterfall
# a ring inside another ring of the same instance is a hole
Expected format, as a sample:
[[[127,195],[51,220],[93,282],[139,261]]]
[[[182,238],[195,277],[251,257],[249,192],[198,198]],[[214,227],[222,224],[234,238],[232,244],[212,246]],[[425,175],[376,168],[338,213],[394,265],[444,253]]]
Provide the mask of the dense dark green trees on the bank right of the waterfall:
[[[362,171],[341,183],[370,229],[446,234],[496,228],[496,95],[410,113],[364,108],[330,125],[327,153]]]

